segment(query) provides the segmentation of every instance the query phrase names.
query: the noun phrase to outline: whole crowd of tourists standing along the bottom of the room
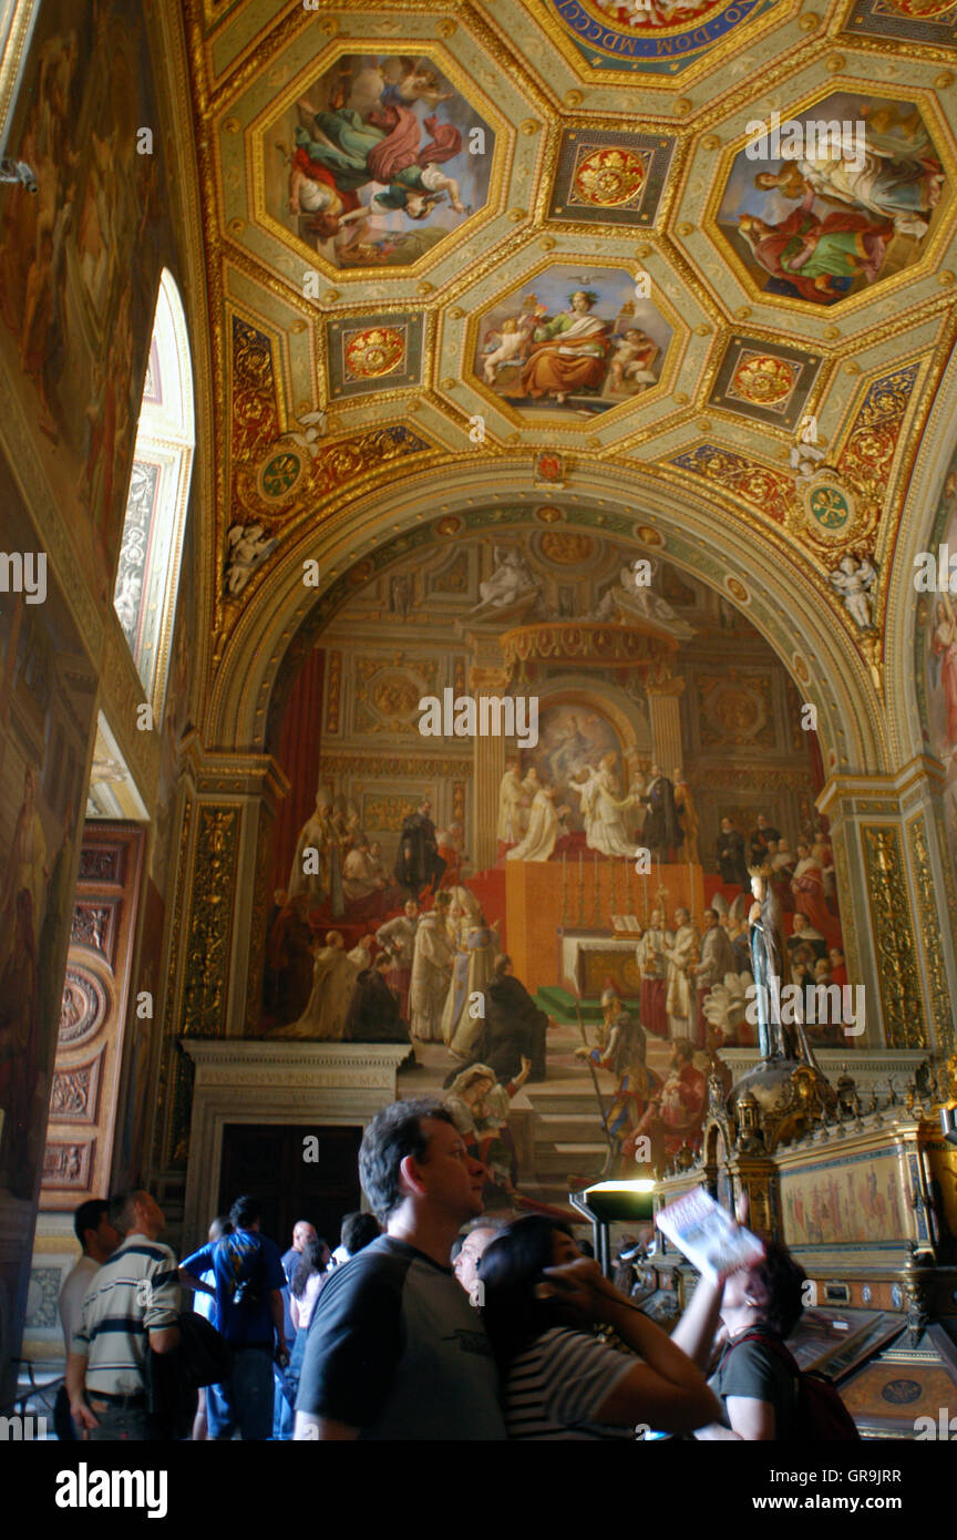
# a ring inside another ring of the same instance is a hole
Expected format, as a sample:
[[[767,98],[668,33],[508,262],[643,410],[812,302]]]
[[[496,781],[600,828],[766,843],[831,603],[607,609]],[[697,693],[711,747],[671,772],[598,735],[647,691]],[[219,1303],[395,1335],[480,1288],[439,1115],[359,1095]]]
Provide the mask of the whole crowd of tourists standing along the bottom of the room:
[[[702,1280],[669,1335],[560,1220],[483,1214],[485,1167],[438,1098],[378,1112],[358,1164],[372,1214],[335,1250],[300,1220],[280,1257],[240,1197],[177,1266],[149,1194],[82,1204],[57,1435],[808,1437],[785,1348],[805,1274],[780,1243]]]

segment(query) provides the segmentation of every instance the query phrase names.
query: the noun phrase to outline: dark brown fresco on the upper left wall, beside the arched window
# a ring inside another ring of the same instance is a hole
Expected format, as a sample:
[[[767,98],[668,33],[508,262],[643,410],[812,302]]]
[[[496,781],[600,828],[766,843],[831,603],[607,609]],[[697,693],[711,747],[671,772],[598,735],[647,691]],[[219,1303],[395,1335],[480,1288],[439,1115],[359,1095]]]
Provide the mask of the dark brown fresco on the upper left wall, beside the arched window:
[[[9,151],[38,191],[0,189],[0,357],[25,376],[62,508],[89,530],[106,598],[152,323],[162,136],[142,18],[46,0]],[[22,116],[20,116],[22,114]]]

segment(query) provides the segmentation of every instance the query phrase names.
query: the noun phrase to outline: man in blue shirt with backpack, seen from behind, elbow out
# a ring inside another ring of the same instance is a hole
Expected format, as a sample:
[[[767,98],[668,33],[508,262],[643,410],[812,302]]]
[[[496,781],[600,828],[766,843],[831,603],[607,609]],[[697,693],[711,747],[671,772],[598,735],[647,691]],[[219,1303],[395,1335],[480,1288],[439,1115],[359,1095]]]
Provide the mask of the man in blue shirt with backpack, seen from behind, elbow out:
[[[206,1392],[211,1438],[266,1440],[272,1432],[272,1360],[288,1363],[283,1309],[286,1275],[278,1246],[260,1234],[255,1198],[237,1198],[232,1232],[202,1246],[182,1264],[183,1281],[212,1270],[215,1326],[232,1348],[232,1374]]]

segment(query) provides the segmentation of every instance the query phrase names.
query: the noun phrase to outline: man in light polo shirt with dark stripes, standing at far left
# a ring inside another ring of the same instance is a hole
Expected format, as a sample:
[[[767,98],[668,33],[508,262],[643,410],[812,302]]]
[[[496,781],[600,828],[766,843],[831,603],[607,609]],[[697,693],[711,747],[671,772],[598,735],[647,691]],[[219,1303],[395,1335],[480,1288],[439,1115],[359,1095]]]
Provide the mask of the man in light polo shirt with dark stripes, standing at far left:
[[[163,1210],[148,1192],[111,1200],[123,1237],[83,1298],[66,1361],[69,1411],[83,1438],[151,1438],[146,1354],[178,1346],[175,1257],[157,1241]]]

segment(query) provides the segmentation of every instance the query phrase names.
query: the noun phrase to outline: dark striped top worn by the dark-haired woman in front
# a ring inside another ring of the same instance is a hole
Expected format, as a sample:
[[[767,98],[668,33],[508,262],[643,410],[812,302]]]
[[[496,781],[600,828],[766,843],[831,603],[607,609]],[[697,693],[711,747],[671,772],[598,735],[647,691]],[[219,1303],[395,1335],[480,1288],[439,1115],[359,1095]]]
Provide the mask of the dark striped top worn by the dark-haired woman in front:
[[[505,1388],[508,1437],[634,1438],[634,1429],[595,1418],[635,1363],[585,1332],[551,1327],[512,1360]]]

